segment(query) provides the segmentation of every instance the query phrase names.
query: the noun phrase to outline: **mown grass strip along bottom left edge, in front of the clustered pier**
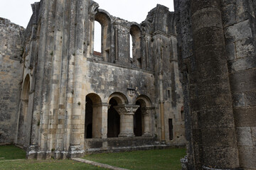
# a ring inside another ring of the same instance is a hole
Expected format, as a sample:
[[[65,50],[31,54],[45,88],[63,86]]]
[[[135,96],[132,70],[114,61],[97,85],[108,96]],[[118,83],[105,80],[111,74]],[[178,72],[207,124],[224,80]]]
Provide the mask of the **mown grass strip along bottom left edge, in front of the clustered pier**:
[[[40,169],[40,170],[96,170],[102,169],[89,164],[74,162],[72,160],[22,160],[22,161],[7,161],[0,162],[1,170],[19,170],[19,169]]]

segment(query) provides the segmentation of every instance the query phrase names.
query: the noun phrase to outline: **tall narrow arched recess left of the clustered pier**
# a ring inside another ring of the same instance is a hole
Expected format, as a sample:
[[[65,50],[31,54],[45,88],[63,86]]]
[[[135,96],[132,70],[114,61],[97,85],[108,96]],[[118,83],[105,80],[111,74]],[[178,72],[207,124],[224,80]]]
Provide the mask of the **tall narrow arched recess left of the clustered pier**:
[[[28,121],[28,101],[31,89],[31,81],[29,74],[26,75],[23,81],[23,87],[21,91],[21,106],[18,118],[18,137],[17,142],[19,145],[29,145],[26,143],[28,140],[28,127],[31,128],[31,121]]]

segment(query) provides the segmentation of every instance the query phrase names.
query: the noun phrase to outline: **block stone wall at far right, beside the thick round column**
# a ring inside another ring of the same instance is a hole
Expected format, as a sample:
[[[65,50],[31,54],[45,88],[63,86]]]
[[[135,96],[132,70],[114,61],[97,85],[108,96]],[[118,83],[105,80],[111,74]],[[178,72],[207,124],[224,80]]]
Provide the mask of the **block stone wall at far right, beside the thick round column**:
[[[223,1],[222,10],[240,166],[256,169],[255,1]]]

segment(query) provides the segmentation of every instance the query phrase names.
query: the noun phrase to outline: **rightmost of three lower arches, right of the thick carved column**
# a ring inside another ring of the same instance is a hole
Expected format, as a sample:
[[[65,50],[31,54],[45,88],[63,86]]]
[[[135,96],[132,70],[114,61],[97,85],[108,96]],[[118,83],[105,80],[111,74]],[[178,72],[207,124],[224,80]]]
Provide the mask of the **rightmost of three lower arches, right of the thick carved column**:
[[[151,101],[149,97],[141,95],[136,99],[136,105],[139,106],[134,113],[134,135],[151,136]]]

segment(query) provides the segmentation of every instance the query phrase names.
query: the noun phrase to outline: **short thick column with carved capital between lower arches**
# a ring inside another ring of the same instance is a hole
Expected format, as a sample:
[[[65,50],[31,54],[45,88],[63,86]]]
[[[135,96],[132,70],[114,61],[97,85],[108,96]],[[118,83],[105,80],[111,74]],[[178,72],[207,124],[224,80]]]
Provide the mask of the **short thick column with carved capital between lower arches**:
[[[134,137],[134,113],[138,108],[137,105],[114,106],[114,109],[120,115],[119,137]]]

